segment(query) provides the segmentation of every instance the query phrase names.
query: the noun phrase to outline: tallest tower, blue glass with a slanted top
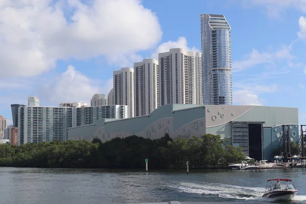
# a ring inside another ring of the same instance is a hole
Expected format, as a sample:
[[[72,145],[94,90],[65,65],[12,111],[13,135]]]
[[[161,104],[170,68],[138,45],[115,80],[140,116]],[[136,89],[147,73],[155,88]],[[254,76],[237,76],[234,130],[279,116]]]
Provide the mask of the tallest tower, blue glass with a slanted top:
[[[224,15],[201,14],[203,104],[233,105],[231,27]]]

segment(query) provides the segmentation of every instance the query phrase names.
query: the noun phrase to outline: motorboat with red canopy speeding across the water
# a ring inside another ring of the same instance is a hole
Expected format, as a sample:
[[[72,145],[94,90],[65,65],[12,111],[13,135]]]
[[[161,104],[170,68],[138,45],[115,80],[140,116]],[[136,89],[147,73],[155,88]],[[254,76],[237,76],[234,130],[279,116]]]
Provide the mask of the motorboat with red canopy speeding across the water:
[[[281,183],[282,182],[282,183]],[[286,183],[285,183],[286,182]],[[267,181],[266,191],[263,198],[271,201],[291,200],[297,193],[292,180],[290,179],[270,179]]]

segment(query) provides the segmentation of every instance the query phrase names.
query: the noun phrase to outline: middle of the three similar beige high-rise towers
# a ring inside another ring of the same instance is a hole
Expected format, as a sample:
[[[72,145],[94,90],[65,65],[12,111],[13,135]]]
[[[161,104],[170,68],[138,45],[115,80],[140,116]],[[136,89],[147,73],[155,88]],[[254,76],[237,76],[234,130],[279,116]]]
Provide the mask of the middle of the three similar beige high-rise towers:
[[[134,63],[135,117],[149,115],[159,107],[159,64],[156,59]]]

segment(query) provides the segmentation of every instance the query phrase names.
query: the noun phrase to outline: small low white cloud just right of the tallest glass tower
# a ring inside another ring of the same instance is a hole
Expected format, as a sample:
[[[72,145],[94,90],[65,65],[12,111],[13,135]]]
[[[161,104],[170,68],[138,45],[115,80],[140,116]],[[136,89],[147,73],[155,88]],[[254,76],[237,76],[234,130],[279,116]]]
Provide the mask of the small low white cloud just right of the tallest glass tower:
[[[238,90],[233,92],[233,103],[236,105],[262,106],[262,100],[258,94],[249,90]]]

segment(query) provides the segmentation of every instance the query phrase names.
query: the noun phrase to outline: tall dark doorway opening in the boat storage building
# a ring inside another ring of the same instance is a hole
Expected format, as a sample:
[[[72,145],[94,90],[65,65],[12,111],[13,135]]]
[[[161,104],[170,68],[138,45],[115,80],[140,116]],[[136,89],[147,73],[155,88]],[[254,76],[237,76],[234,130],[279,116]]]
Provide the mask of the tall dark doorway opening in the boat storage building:
[[[257,161],[260,161],[263,158],[262,131],[263,126],[261,123],[248,124],[249,157],[254,158]]]

